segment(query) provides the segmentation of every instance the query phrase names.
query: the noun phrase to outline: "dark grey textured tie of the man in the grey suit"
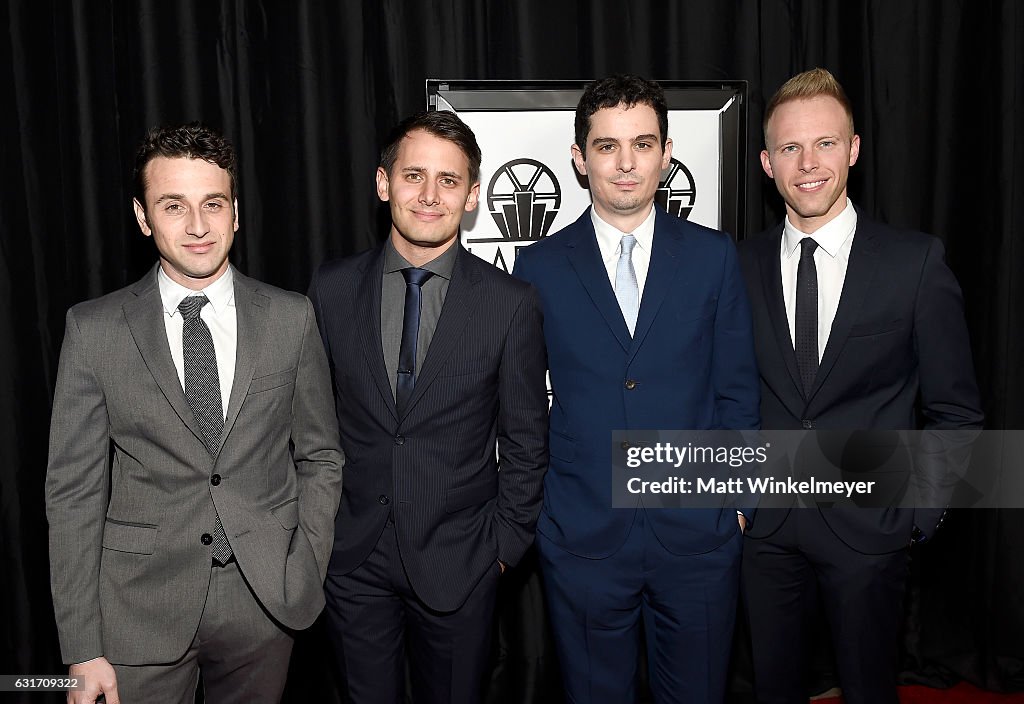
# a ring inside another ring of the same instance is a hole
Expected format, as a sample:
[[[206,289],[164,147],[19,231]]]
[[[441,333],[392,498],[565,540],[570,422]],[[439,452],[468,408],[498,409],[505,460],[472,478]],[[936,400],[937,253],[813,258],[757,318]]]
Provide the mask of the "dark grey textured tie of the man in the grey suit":
[[[203,443],[211,456],[216,456],[220,434],[224,430],[223,404],[220,401],[220,375],[217,371],[217,351],[213,336],[199,316],[210,300],[200,294],[188,296],[178,304],[181,313],[181,349],[184,357],[185,399],[199,424]],[[213,527],[213,559],[226,564],[231,559],[220,516]]]

